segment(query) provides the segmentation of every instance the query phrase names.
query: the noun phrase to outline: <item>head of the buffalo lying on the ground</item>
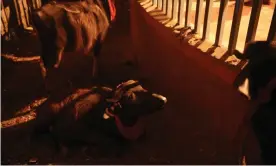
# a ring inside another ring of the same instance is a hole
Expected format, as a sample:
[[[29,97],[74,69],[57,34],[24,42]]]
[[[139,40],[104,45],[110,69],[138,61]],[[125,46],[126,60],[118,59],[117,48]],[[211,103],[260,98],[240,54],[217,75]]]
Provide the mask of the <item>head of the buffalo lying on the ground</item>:
[[[106,109],[104,118],[117,115],[122,119],[136,119],[161,110],[167,103],[167,98],[152,93],[135,80],[119,84],[112,98],[107,99],[110,107]]]

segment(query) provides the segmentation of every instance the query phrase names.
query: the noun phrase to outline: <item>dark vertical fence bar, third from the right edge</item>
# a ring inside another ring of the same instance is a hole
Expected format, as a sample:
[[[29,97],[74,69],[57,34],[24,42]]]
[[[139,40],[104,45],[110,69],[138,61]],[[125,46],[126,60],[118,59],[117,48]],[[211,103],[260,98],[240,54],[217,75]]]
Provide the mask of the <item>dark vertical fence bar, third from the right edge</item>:
[[[236,48],[236,45],[237,45],[243,4],[244,4],[244,0],[237,0],[236,4],[235,4],[235,10],[234,10],[234,15],[233,15],[233,21],[232,21],[230,39],[229,39],[229,45],[228,45],[228,52],[227,52],[228,55],[233,54],[233,52]]]

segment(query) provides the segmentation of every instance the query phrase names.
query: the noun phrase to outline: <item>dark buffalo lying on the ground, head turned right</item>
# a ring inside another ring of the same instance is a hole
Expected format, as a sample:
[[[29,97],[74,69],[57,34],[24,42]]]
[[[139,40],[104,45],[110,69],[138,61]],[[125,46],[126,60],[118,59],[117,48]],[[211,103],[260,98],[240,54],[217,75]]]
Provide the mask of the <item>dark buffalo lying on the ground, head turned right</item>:
[[[166,102],[165,97],[151,93],[134,80],[114,90],[79,89],[60,102],[49,98],[38,108],[34,136],[50,132],[59,149],[77,142],[89,145],[104,138],[136,140],[144,133],[144,117],[162,110]]]

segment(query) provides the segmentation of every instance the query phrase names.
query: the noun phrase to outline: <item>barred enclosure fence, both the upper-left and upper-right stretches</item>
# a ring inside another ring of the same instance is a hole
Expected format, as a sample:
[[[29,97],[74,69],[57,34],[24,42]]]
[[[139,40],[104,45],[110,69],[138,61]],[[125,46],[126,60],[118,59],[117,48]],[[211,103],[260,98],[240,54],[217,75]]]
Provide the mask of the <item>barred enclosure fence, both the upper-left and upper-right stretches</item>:
[[[276,0],[274,2],[274,6]],[[167,17],[175,20],[178,25],[187,28],[193,23],[193,33],[201,33],[204,41],[209,38],[211,27],[210,22],[214,14],[214,0],[149,0],[156,9],[166,13]],[[216,18],[216,30],[214,46],[222,46],[225,34],[228,4],[231,0],[219,1],[218,17]],[[227,54],[232,55],[236,49],[241,25],[242,11],[245,0],[236,0],[229,41],[227,42]],[[196,3],[194,16],[192,15],[192,4]],[[247,27],[245,44],[255,40],[259,18],[261,15],[263,0],[252,0],[250,19]],[[41,0],[2,0],[1,1],[1,36],[8,34],[11,29],[21,28],[32,29],[30,13],[41,6]],[[274,7],[271,23],[267,34],[268,41],[276,40],[276,7]],[[202,22],[203,21],[203,22]],[[244,25],[243,25],[244,26]],[[201,32],[202,31],[202,32]],[[228,38],[227,38],[228,39]]]

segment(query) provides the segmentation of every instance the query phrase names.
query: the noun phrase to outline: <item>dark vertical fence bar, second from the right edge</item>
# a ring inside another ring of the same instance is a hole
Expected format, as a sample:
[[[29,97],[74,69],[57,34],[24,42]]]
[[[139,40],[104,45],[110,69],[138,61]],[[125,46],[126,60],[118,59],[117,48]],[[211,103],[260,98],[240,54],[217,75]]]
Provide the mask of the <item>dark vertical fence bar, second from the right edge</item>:
[[[251,15],[250,15],[247,35],[246,35],[246,39],[245,39],[245,44],[255,40],[263,0],[252,1],[252,3],[253,3],[252,10],[251,10]]]

